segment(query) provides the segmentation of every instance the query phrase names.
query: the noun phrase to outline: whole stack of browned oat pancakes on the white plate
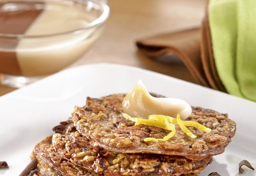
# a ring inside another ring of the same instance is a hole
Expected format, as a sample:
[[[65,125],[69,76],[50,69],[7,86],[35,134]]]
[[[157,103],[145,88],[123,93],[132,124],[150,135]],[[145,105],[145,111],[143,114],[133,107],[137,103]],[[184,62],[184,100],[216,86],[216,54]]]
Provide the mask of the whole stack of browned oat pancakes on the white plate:
[[[227,114],[192,108],[186,120],[211,128],[210,133],[188,127],[197,138],[187,136],[179,126],[166,141],[169,131],[126,120],[122,116],[124,94],[87,98],[76,107],[72,118],[53,128],[54,134],[36,144],[32,159],[38,160],[39,176],[198,176],[224,152],[236,131]]]

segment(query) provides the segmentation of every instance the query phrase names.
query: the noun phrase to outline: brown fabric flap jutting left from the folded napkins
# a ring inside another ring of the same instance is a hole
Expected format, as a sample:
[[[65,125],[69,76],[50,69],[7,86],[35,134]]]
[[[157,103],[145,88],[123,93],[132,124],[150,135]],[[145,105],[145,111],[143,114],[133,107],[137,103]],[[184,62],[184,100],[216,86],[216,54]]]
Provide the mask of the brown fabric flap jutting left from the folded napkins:
[[[150,57],[175,54],[184,62],[197,84],[210,87],[200,58],[199,28],[144,38],[136,44],[141,52]]]

